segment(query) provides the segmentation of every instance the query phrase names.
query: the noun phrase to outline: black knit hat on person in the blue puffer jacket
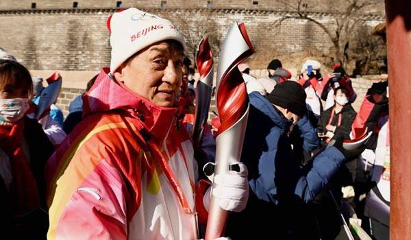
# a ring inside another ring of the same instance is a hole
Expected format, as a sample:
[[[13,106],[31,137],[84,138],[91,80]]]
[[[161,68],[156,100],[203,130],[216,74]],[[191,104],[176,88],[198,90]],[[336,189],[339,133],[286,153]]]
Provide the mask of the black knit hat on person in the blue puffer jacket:
[[[267,97],[271,104],[287,108],[298,117],[306,113],[306,92],[303,87],[294,81],[286,81],[277,84]]]

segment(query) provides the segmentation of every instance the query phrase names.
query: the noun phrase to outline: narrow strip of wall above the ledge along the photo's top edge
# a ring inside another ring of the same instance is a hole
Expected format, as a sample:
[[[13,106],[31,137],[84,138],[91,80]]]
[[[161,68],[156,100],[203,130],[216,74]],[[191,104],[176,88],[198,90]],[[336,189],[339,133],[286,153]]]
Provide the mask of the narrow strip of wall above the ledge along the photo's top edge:
[[[121,8],[239,8],[259,10],[290,10],[290,6],[297,5],[298,0],[288,0],[284,5],[275,0],[1,0],[0,10],[29,10],[32,3],[36,3],[36,9],[71,9],[73,3],[77,2],[77,9],[85,8],[116,8],[121,3]],[[361,4],[364,1],[359,0]],[[384,0],[372,0],[377,7],[365,8],[367,14],[384,14]],[[165,4],[162,4],[165,3]],[[345,5],[340,0],[303,0],[302,8],[312,12],[329,12],[339,10]],[[383,7],[381,7],[383,6]]]

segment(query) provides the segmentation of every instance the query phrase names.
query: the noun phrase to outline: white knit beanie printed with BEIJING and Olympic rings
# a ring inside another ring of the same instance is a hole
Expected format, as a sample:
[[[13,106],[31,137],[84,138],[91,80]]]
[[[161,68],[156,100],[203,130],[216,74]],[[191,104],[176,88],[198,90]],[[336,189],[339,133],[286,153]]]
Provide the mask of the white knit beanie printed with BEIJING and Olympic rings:
[[[108,27],[111,31],[112,73],[137,51],[162,40],[177,40],[186,49],[184,36],[171,21],[136,8],[112,14],[108,19]]]

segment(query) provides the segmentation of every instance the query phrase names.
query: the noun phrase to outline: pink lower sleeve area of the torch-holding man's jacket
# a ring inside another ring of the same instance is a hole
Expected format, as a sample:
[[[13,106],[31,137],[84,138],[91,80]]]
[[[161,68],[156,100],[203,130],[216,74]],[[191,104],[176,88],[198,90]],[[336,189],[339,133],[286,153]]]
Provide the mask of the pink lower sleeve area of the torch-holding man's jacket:
[[[126,239],[126,197],[119,169],[101,160],[62,211],[56,239]]]

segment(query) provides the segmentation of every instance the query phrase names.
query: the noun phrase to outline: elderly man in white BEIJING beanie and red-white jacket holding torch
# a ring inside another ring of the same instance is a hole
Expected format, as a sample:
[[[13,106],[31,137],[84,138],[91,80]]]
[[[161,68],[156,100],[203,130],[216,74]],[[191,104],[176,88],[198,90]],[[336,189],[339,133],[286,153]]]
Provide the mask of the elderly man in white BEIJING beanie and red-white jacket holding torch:
[[[48,238],[197,239],[209,197],[195,194],[192,141],[176,116],[184,38],[136,8],[108,26],[110,73],[84,95],[84,119],[49,160]],[[227,211],[247,202],[247,169],[234,169],[212,191]]]

